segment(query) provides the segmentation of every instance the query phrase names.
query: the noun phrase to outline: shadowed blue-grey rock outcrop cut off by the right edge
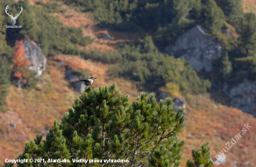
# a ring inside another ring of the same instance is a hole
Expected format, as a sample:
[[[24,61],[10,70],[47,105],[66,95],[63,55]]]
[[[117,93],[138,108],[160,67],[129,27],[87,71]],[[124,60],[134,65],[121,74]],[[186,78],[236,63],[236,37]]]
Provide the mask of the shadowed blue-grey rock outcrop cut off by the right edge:
[[[233,107],[256,117],[256,81],[245,78],[242,83],[231,88],[224,84],[223,92],[231,98]]]

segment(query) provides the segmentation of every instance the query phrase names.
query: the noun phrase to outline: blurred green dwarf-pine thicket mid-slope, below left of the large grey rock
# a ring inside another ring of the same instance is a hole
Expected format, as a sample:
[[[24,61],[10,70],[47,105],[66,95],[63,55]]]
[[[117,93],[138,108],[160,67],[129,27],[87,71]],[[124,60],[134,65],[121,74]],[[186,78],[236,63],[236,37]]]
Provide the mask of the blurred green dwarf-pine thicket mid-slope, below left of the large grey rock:
[[[155,91],[168,82],[179,85],[183,94],[205,93],[211,87],[210,81],[202,80],[185,60],[159,53],[150,36],[136,46],[122,46],[120,53],[120,65],[110,71],[149,90]]]

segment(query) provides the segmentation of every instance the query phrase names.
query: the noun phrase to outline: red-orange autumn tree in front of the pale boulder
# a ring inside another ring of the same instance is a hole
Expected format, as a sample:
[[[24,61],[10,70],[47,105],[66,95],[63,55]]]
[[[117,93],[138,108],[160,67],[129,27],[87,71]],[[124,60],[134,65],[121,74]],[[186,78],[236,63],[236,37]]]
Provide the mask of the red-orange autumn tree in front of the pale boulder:
[[[23,48],[23,40],[16,40],[13,53],[13,75],[19,80],[22,80],[24,77],[29,75],[29,72],[23,71],[24,68],[27,68],[27,66],[31,64],[27,58],[24,57],[25,55],[26,53]]]

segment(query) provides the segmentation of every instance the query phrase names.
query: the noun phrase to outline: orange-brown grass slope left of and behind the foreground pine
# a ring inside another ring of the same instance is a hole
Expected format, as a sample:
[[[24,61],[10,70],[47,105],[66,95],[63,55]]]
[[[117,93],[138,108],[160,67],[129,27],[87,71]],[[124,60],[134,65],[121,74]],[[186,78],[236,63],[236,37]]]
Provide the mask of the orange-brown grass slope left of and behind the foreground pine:
[[[71,55],[58,55],[53,59],[63,61],[63,67],[49,59],[46,72],[39,77],[37,89],[10,88],[7,96],[8,111],[0,113],[0,166],[6,158],[15,159],[21,154],[25,142],[34,139],[36,134],[44,134],[45,137],[54,120],[60,120],[67,108],[72,107],[74,100],[82,94],[75,92],[67,81],[66,65],[73,69],[82,68],[97,77],[94,87],[116,82],[122,92],[130,95],[131,101],[139,95],[138,89],[131,82],[121,78],[111,80],[107,65]]]

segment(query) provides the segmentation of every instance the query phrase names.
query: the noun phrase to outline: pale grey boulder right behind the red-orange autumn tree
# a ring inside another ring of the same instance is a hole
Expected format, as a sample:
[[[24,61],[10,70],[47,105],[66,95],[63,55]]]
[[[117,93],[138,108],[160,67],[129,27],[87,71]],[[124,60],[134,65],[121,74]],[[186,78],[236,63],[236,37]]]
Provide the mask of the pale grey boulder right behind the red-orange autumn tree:
[[[29,69],[37,72],[35,77],[40,76],[45,71],[47,62],[40,47],[37,46],[34,40],[31,40],[27,35],[24,35],[23,47],[26,53],[24,57],[26,57],[31,63]]]

